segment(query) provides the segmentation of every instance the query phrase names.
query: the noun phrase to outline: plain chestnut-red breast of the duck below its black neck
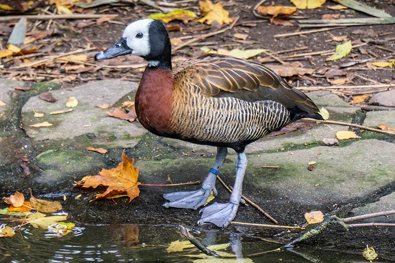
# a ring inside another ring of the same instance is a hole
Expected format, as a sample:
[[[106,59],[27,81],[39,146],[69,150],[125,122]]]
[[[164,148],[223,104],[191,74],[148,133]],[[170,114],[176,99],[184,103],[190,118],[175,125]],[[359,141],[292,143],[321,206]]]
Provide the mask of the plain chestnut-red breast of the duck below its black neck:
[[[171,136],[174,77],[170,69],[146,68],[138,87],[135,107],[139,122],[151,133]]]

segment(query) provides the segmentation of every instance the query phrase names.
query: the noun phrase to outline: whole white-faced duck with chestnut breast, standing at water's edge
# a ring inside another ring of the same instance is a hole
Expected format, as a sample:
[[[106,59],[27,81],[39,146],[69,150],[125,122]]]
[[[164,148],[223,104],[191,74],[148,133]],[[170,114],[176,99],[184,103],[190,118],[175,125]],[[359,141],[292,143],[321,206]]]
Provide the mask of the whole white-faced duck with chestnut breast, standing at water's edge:
[[[200,210],[199,225],[225,228],[236,216],[247,168],[246,146],[301,118],[323,120],[304,93],[267,67],[230,56],[204,54],[172,66],[165,25],[154,19],[130,23],[112,47],[95,60],[140,56],[147,61],[135,97],[141,125],[151,133],[217,147],[213,166],[201,188],[164,194],[163,206],[198,209],[211,192],[228,148],[237,154],[235,180],[227,203]]]

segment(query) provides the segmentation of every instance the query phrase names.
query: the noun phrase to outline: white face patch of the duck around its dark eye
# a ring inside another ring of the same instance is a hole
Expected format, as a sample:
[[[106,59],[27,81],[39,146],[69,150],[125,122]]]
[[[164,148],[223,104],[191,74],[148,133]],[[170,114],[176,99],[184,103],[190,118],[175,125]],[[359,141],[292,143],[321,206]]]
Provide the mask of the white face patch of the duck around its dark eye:
[[[148,32],[152,21],[153,19],[138,20],[125,28],[122,36],[126,37],[128,47],[133,50],[132,55],[147,56],[150,53]]]

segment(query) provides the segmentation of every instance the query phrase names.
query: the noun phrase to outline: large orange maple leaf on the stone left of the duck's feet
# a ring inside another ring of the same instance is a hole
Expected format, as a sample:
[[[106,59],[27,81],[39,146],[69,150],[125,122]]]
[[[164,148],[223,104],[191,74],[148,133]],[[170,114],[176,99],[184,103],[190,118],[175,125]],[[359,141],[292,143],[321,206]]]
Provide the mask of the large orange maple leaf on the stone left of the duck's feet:
[[[138,188],[141,185],[138,182],[139,170],[138,167],[133,167],[134,159],[122,153],[122,162],[118,164],[116,168],[102,169],[97,176],[84,177],[82,181],[77,182],[75,186],[81,187],[93,187],[107,186],[104,193],[96,195],[90,202],[103,197],[111,197],[113,195],[119,195],[126,193],[129,196],[129,202],[139,196],[140,190]]]

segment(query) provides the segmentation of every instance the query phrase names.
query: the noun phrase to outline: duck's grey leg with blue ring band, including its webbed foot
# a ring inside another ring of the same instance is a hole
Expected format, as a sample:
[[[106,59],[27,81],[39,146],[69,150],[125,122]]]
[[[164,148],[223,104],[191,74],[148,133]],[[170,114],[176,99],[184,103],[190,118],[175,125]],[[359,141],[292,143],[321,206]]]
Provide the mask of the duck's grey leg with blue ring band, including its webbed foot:
[[[227,153],[227,148],[217,147],[217,156],[215,158],[213,168],[210,169],[207,178],[205,181],[203,181],[201,189],[191,192],[175,192],[164,194],[163,197],[170,202],[164,203],[163,206],[198,209],[198,207],[204,205],[207,202],[211,191],[214,192],[214,196],[217,196],[215,180],[217,179],[217,174],[223,162],[225,161]]]

